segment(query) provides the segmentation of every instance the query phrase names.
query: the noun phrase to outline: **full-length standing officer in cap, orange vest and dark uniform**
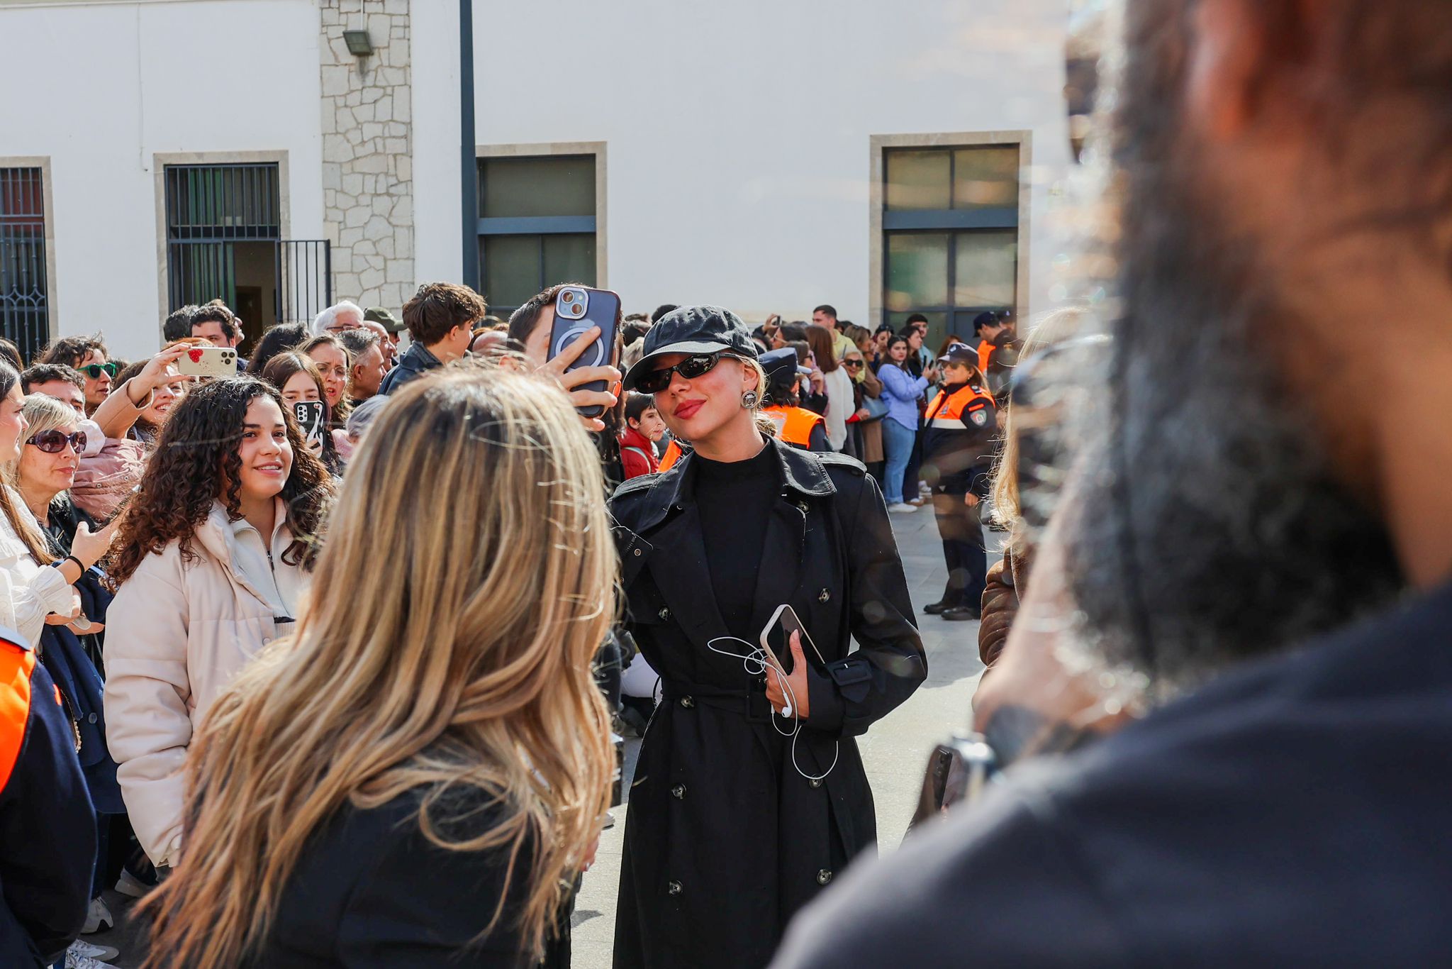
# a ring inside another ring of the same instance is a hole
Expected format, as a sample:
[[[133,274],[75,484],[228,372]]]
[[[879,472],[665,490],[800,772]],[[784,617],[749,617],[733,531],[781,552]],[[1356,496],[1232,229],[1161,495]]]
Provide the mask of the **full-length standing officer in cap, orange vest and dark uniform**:
[[[979,354],[955,346],[942,363],[977,366]],[[938,391],[923,415],[923,479],[932,485],[932,508],[942,539],[948,584],[942,599],[923,612],[944,619],[977,619],[987,558],[983,548],[980,508],[989,497],[993,440],[998,436],[998,407],[976,375],[967,384],[950,384]],[[980,503],[968,507],[967,494]]]

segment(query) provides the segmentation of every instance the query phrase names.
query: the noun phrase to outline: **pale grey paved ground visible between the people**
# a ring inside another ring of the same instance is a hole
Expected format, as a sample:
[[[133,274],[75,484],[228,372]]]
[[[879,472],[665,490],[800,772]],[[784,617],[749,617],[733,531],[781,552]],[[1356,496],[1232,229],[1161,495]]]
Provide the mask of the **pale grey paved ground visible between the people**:
[[[912,514],[894,514],[893,530],[908,572],[908,588],[922,626],[928,649],[928,681],[899,709],[858,739],[862,763],[877,800],[878,850],[892,851],[903,837],[916,805],[928,751],[941,738],[968,721],[968,705],[983,664],[979,662],[976,622],[945,622],[923,616],[922,606],[942,594],[944,565],[938,529],[931,506]],[[996,536],[989,536],[996,538]],[[992,561],[992,559],[990,559]],[[626,779],[635,769],[640,741],[626,744]],[[629,793],[629,784],[626,786]],[[604,969],[610,966],[616,924],[616,889],[620,882],[620,846],[624,838],[629,805],[614,809],[616,825],[600,841],[595,866],[585,876],[575,908],[574,966]],[[122,950],[115,960],[123,969],[141,965],[141,941],[125,918],[128,905],[121,895],[106,893],[122,924],[109,933],[91,936],[93,941]]]

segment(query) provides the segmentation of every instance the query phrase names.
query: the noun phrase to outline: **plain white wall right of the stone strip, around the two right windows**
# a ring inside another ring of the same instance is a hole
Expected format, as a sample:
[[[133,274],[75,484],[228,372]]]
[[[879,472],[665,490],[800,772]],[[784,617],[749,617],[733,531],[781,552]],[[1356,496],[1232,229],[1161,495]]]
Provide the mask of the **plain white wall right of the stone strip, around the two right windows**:
[[[459,261],[453,7],[415,1],[417,170],[436,173],[427,196],[420,177],[420,277]],[[1047,308],[1064,17],[1061,0],[479,1],[476,139],[608,142],[608,285],[630,311],[832,302],[865,321],[868,138],[1031,129],[1029,302]],[[556,55],[576,45],[579,64]]]

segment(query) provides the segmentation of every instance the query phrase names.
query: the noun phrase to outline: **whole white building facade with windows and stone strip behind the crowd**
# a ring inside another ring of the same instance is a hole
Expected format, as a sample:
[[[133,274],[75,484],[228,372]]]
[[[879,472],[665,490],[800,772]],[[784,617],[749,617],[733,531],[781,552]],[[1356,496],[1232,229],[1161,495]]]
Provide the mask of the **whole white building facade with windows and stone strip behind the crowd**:
[[[454,0],[0,6],[4,334],[136,357],[186,302],[257,336],[470,270],[501,312],[565,280],[935,337],[1050,308],[1061,0],[472,16],[466,219]]]

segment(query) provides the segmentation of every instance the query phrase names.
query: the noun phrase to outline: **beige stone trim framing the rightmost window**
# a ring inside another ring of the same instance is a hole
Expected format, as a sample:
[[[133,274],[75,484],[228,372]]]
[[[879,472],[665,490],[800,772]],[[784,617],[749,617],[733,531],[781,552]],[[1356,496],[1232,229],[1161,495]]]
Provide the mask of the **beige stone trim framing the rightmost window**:
[[[883,318],[883,154],[887,148],[971,148],[974,145],[1018,145],[1018,272],[1013,298],[1018,315],[1029,318],[1028,260],[1032,251],[1031,214],[1034,209],[1034,179],[1025,177],[1034,164],[1034,132],[1031,131],[960,131],[921,135],[871,135],[871,185],[868,190],[868,289],[867,318],[873,327]]]

